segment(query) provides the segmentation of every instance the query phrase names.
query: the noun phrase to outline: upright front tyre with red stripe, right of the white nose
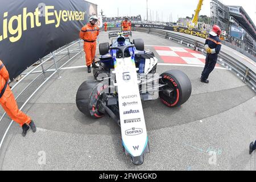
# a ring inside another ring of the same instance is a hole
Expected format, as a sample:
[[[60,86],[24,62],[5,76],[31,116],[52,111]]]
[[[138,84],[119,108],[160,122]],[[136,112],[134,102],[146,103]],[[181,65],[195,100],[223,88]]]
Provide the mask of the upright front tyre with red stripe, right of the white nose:
[[[159,90],[159,97],[168,107],[177,107],[184,104],[191,96],[191,81],[185,73],[179,70],[170,70],[160,75],[159,84],[166,84]]]

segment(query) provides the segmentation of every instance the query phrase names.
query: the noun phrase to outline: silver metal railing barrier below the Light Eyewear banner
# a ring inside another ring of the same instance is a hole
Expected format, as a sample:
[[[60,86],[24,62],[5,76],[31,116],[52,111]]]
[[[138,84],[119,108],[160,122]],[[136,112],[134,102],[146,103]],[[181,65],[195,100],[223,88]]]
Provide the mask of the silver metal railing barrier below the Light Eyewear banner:
[[[49,55],[47,55],[46,57],[39,60],[38,65],[36,65],[36,66],[32,65],[24,73],[21,74],[23,77],[11,88],[11,90],[14,90],[17,86],[20,85],[20,83],[24,84],[24,82],[22,82],[22,81],[25,78],[27,78],[28,76],[30,76],[31,74],[39,74],[39,75],[36,76],[34,78],[34,80],[32,80],[29,84],[27,84],[25,86],[25,88],[22,90],[22,92],[19,93],[19,95],[15,98],[15,100],[17,100],[20,96],[22,96],[22,94],[25,93],[25,91],[27,91],[28,88],[31,88],[32,84],[36,84],[36,83],[38,84],[38,82],[40,82],[40,78],[42,78],[41,76],[44,76],[44,80],[43,80],[42,84],[40,84],[34,90],[34,92],[27,98],[27,100],[24,102],[22,107],[20,107],[20,110],[22,110],[24,108],[24,106],[27,105],[28,101],[31,100],[31,98],[36,94],[36,92],[38,92],[42,88],[42,86],[44,84],[46,84],[50,78],[52,78],[53,75],[55,75],[57,73],[58,78],[61,78],[59,75],[59,72],[61,70],[65,69],[63,67],[66,64],[68,64],[69,61],[74,59],[79,54],[82,57],[82,50],[83,50],[82,42],[83,42],[82,40],[76,40],[75,42],[67,44],[67,46],[61,47],[61,48],[57,49],[56,51],[51,52]],[[66,58],[67,56],[68,56],[68,60],[64,60],[64,58]],[[61,65],[59,66],[58,64],[61,64]],[[44,68],[44,65],[47,65],[48,68]],[[40,70],[36,71],[38,69],[40,69]],[[47,76],[47,73],[51,73],[51,75]],[[3,131],[0,133],[0,141],[1,141],[0,142],[0,152],[2,149],[3,142],[6,138],[6,135],[7,135],[8,131],[10,130],[11,125],[13,124],[13,121],[11,121],[10,124],[9,124],[9,122],[7,122],[7,125],[3,124],[3,118],[5,117],[5,115],[6,115],[6,113],[4,113],[0,119],[0,129],[1,129],[1,131]]]

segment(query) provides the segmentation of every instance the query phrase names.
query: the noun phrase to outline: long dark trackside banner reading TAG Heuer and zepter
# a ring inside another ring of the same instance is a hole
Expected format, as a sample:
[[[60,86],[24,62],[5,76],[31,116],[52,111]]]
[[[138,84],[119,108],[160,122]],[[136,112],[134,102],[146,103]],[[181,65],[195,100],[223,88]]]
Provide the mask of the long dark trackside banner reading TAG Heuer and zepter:
[[[180,32],[183,34],[189,34],[193,36],[198,36],[200,38],[207,38],[207,35],[203,34],[200,30],[192,29],[189,30],[188,28],[185,27],[170,27],[170,26],[162,26],[162,25],[157,25],[157,24],[131,24],[132,27],[137,27],[137,28],[156,28],[160,30],[170,30],[170,31],[175,31],[175,32]]]

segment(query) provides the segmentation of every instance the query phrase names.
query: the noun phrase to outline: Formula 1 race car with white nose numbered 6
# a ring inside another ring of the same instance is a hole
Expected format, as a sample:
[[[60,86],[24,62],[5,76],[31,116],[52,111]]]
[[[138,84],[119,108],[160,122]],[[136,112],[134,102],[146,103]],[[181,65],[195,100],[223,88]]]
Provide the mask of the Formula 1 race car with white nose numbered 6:
[[[112,44],[101,43],[94,63],[96,80],[81,84],[76,95],[78,109],[92,118],[109,114],[121,126],[123,150],[135,165],[150,151],[142,101],[160,98],[168,107],[184,104],[191,96],[191,81],[185,73],[156,73],[158,59],[144,50],[142,39],[130,42],[131,32],[110,32]]]

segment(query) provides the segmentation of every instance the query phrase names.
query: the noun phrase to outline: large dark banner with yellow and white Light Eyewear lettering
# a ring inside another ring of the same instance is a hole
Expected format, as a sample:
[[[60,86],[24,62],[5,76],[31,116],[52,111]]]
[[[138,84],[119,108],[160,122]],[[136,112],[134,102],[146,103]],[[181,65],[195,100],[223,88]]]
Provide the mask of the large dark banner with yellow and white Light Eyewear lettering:
[[[79,39],[97,5],[84,0],[0,0],[0,60],[10,78]]]

